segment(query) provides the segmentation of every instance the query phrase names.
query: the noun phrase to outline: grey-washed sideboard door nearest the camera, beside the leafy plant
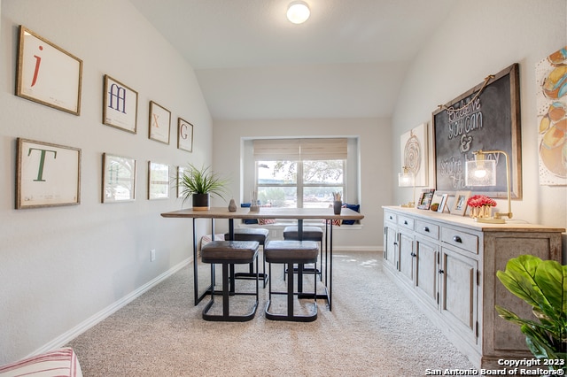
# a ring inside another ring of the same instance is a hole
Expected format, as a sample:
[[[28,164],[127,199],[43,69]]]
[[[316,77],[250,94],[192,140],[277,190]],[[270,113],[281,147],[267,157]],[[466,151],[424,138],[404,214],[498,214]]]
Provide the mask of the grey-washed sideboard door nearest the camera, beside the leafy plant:
[[[442,248],[441,313],[463,339],[477,343],[478,262]]]

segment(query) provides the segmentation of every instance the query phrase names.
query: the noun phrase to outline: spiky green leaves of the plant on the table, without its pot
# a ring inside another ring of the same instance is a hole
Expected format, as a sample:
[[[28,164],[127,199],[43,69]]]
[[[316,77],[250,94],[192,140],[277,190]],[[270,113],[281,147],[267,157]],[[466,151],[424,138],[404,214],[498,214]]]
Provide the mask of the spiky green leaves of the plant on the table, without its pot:
[[[229,181],[214,173],[210,166],[198,168],[192,164],[188,165],[179,179],[183,203],[193,194],[209,194],[224,199],[228,184]]]

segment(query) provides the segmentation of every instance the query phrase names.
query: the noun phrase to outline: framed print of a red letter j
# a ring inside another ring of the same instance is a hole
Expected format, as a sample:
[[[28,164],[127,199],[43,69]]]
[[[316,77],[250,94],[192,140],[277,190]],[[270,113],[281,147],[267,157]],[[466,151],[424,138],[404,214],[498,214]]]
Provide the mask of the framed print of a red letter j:
[[[82,60],[19,26],[16,96],[63,112],[81,112]]]

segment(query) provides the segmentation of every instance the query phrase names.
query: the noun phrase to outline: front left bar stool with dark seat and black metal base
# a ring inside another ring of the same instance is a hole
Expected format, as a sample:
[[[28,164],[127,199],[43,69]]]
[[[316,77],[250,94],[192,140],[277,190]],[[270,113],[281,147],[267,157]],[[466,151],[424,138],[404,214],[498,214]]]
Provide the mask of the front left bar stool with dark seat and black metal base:
[[[214,271],[211,272],[211,300],[203,309],[203,319],[215,321],[244,322],[254,318],[258,308],[258,277],[256,277],[256,292],[234,292],[229,287],[229,265],[250,264],[256,259],[258,264],[258,246],[256,241],[212,241],[201,249],[203,263],[222,265],[222,314],[208,314],[214,304]],[[231,285],[234,281],[230,281]],[[252,311],[245,315],[230,315],[229,296],[256,296]]]

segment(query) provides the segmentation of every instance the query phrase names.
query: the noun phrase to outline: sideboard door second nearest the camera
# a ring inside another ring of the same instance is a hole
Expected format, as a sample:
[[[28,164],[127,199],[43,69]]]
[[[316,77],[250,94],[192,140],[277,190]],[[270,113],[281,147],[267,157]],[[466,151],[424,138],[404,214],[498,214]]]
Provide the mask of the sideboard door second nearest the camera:
[[[439,246],[416,237],[416,292],[423,301],[438,308]]]

